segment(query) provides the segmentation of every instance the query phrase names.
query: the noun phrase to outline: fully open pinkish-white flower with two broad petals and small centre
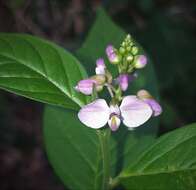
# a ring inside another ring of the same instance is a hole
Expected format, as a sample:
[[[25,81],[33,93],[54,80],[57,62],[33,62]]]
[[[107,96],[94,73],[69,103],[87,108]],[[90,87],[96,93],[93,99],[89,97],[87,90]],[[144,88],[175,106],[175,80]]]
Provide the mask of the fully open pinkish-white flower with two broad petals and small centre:
[[[108,123],[112,131],[119,128],[121,121],[128,128],[139,127],[152,115],[151,107],[136,96],[123,98],[120,107],[108,106],[104,99],[97,99],[85,105],[78,113],[78,118],[87,127],[99,129]]]

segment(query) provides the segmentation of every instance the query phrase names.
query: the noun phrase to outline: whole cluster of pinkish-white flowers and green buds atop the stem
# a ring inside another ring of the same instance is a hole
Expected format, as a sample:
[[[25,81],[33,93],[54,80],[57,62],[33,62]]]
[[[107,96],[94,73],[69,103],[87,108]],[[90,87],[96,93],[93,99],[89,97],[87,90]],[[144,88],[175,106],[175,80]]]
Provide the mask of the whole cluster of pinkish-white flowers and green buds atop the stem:
[[[136,71],[147,64],[145,55],[139,54],[139,48],[130,35],[119,49],[112,45],[106,47],[106,55],[111,64],[117,67],[118,76],[113,77],[106,67],[103,58],[96,61],[96,75],[78,82],[75,89],[94,100],[83,106],[78,113],[80,121],[88,127],[99,129],[107,123],[112,131],[116,131],[121,122],[129,129],[145,123],[151,116],[162,112],[159,103],[146,90],[139,90],[137,95],[123,96],[129,84],[137,77]],[[98,93],[107,88],[111,101],[98,98]]]

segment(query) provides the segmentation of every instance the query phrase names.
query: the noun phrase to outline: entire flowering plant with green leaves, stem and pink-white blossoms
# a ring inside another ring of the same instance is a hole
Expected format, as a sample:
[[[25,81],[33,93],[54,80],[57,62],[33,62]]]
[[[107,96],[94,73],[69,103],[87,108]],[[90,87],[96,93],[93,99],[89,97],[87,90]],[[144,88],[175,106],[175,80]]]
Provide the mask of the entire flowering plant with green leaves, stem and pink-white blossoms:
[[[162,108],[144,90],[158,95],[152,62],[102,9],[74,56],[0,34],[0,88],[46,104],[46,152],[69,189],[195,189],[196,124],[158,137]]]

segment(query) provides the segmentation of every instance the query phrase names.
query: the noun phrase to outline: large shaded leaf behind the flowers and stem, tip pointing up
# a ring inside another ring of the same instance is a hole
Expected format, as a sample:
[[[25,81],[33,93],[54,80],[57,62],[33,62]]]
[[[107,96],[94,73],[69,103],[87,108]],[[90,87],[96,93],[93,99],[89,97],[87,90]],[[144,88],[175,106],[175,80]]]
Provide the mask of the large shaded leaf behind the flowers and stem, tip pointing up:
[[[125,33],[100,9],[86,42],[76,54],[92,74],[95,60],[104,55],[106,45],[119,45],[124,36]],[[107,63],[107,66],[115,73],[112,65]],[[134,89],[147,87],[157,94],[151,63],[141,75],[143,76],[135,82]],[[77,112],[54,107],[46,108],[44,121],[47,154],[64,184],[70,189],[104,189],[103,176],[106,168],[103,166],[104,155],[97,131],[81,124]],[[122,125],[118,132],[111,134],[108,152],[112,177],[126,168],[154,141],[156,126],[157,120],[152,119],[135,131],[128,131]]]

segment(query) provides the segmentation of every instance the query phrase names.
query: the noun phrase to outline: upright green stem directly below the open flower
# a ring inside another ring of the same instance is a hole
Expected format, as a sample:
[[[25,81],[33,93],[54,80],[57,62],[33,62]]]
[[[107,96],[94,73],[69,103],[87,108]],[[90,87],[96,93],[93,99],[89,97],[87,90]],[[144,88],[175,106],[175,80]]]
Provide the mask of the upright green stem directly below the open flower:
[[[102,190],[109,189],[110,182],[110,150],[109,150],[109,137],[110,129],[98,131],[99,141],[101,144],[101,153],[103,160],[103,183]]]

